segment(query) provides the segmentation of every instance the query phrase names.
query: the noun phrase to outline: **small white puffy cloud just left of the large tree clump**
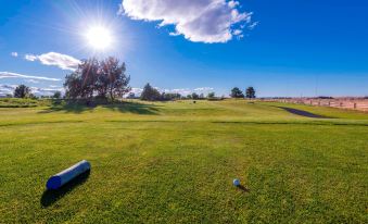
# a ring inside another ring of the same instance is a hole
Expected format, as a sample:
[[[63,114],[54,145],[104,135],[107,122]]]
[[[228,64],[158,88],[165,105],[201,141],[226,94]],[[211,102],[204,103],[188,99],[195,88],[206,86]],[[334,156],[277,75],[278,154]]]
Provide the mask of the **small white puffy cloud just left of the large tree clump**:
[[[71,70],[71,71],[76,70],[78,67],[78,64],[80,63],[79,60],[71,55],[56,53],[56,52],[48,52],[48,53],[43,53],[40,55],[26,54],[25,59],[28,61],[39,61],[41,62],[41,64],[45,64],[45,65],[53,65],[62,70]]]

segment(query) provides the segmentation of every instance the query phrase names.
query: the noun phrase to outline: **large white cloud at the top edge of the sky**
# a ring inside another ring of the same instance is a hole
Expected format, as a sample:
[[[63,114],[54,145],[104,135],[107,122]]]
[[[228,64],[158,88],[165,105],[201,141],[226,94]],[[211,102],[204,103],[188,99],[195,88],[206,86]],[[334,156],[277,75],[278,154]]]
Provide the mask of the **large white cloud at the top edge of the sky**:
[[[123,0],[119,12],[132,20],[161,22],[158,27],[174,25],[172,36],[212,43],[231,40],[239,33],[233,30],[252,23],[252,13],[239,8],[233,0]]]

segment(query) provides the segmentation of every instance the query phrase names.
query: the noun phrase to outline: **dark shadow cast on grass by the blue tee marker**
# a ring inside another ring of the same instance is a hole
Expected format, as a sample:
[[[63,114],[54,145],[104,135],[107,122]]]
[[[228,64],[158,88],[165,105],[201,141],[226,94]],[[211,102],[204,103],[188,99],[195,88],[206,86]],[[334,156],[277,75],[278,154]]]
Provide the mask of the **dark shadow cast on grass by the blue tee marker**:
[[[41,206],[46,208],[46,207],[53,204],[59,199],[63,198],[65,195],[71,192],[74,188],[87,182],[89,174],[90,174],[90,171],[87,171],[80,174],[79,176],[77,176],[76,178],[67,183],[66,185],[62,186],[58,190],[45,190],[45,192],[42,194],[41,200],[40,200]]]

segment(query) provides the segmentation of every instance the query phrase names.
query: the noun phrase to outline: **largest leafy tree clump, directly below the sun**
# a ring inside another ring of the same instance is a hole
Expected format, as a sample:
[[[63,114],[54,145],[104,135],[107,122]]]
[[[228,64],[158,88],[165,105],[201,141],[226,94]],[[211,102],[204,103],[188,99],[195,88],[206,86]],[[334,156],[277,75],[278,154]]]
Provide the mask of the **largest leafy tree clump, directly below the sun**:
[[[92,58],[83,61],[65,77],[65,95],[71,99],[97,97],[114,100],[130,91],[129,80],[125,63],[112,57],[102,61]]]

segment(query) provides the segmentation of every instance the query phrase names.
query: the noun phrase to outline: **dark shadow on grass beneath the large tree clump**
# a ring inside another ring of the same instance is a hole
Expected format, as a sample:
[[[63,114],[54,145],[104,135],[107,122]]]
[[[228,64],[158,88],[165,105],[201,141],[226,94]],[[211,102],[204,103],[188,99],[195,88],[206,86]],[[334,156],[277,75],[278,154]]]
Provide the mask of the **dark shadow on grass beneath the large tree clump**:
[[[105,108],[111,111],[117,111],[120,113],[135,113],[155,115],[158,114],[158,105],[145,104],[138,102],[115,102],[115,103],[101,103],[87,105],[84,103],[53,103],[50,108],[40,111],[39,113],[53,113],[53,112],[65,112],[65,113],[83,113],[86,111],[92,112],[97,107]]]

